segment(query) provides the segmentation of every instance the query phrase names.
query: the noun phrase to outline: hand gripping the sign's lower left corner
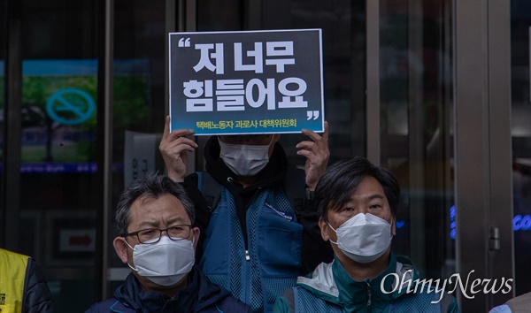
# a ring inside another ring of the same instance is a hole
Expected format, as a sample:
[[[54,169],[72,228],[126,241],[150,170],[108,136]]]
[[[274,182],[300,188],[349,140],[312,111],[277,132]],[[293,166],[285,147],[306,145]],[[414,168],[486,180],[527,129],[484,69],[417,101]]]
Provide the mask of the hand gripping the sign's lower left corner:
[[[186,138],[191,134],[194,134],[191,129],[175,129],[170,133],[170,117],[165,118],[164,133],[158,149],[164,160],[168,177],[173,181],[184,181],[188,151],[194,152],[197,148],[195,141]]]

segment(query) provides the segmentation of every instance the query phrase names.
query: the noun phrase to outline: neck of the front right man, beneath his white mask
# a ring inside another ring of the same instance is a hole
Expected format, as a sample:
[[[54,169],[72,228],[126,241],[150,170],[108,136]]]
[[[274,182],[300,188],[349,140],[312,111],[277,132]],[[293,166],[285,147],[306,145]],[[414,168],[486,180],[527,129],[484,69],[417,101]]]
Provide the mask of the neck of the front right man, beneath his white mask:
[[[366,279],[373,279],[384,272],[389,266],[390,260],[390,248],[387,250],[383,256],[380,256],[378,259],[374,260],[371,263],[358,263],[348,256],[342,255],[338,256],[340,263],[342,264],[345,271],[350,275],[350,278],[355,281],[364,281]]]

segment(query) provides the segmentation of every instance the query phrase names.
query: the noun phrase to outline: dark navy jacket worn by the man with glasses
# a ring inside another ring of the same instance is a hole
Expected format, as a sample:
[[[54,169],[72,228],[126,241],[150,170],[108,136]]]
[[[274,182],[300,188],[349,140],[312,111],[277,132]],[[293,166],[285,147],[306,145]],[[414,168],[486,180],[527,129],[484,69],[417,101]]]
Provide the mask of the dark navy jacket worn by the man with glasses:
[[[133,273],[127,276],[111,299],[92,305],[92,312],[182,312],[247,313],[249,306],[204,276],[196,266],[189,272],[188,286],[172,298],[165,294],[143,292]]]

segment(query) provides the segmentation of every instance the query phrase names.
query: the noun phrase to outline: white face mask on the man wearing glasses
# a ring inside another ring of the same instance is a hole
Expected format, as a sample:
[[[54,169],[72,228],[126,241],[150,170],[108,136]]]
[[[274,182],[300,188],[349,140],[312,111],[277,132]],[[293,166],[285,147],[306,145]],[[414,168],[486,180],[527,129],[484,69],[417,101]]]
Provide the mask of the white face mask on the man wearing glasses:
[[[127,241],[126,244],[129,246]],[[194,242],[190,240],[171,240],[162,236],[157,243],[141,243],[129,248],[133,249],[135,268],[127,265],[160,286],[177,284],[192,270],[196,261]]]

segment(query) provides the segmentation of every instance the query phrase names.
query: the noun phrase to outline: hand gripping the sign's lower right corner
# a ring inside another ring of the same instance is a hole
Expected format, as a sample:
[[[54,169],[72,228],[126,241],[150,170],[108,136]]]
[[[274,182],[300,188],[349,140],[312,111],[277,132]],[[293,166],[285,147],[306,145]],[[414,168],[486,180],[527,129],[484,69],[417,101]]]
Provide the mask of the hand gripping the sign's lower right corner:
[[[303,134],[312,141],[301,141],[296,145],[296,154],[306,156],[304,171],[306,172],[306,186],[315,189],[321,176],[327,170],[328,158],[328,122],[325,122],[325,132],[321,135],[309,129],[303,129]]]

